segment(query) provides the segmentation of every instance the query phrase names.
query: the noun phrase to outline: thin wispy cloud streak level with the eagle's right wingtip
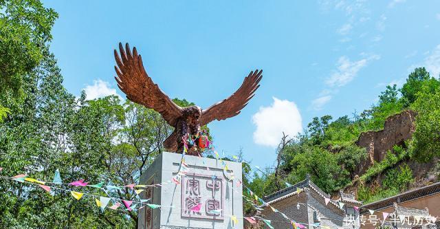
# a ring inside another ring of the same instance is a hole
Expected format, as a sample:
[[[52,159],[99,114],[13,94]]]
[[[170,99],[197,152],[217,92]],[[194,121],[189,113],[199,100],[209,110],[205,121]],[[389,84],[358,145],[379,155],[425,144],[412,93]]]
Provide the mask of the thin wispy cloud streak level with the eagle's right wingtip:
[[[366,54],[362,55],[365,56]],[[369,61],[377,60],[378,58],[380,58],[380,56],[371,55],[362,58],[360,61],[350,61],[347,56],[341,56],[336,65],[338,69],[325,80],[325,83],[330,87],[342,87],[347,85],[347,83],[355,78],[362,67],[365,67]]]

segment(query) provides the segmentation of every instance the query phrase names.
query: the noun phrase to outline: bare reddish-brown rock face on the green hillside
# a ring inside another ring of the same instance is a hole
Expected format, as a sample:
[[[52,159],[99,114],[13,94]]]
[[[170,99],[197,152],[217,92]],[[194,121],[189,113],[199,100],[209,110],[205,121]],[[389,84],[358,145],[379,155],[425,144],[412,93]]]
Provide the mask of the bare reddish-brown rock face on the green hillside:
[[[356,144],[364,147],[368,157],[360,164],[358,175],[365,173],[366,169],[375,162],[384,160],[386,152],[393,150],[394,145],[402,145],[405,140],[412,137],[415,131],[415,111],[402,111],[385,120],[384,129],[361,133]]]

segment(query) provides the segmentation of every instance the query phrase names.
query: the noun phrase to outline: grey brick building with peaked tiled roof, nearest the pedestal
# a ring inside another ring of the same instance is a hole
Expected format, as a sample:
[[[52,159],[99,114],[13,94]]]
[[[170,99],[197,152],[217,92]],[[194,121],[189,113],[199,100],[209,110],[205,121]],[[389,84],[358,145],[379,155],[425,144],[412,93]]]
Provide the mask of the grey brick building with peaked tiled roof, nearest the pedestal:
[[[302,189],[299,194],[298,188]],[[344,193],[341,193],[340,199],[331,200],[329,194],[311,182],[309,175],[302,182],[266,196],[264,201],[309,229],[314,229],[314,223],[320,223],[320,228],[328,226],[331,229],[359,228],[360,225],[358,210],[354,207],[360,206],[362,202]],[[261,214],[264,219],[271,220],[274,228],[292,228],[280,212],[274,212],[266,206]]]

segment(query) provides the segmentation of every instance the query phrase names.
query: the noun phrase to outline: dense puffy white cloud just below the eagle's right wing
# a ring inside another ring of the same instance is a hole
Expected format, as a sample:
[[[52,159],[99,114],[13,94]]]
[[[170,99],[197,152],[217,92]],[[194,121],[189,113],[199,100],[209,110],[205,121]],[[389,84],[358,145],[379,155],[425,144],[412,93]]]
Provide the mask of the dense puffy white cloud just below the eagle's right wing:
[[[278,146],[283,132],[290,137],[303,131],[303,120],[294,102],[272,97],[274,102],[269,107],[260,107],[252,116],[256,125],[254,142],[263,146]]]

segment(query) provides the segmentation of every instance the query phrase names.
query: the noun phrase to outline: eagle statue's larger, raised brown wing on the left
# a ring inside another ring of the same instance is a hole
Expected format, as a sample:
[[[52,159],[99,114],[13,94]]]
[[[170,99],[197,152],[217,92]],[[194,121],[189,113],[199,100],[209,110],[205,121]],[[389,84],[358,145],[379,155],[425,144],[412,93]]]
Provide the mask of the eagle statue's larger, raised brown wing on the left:
[[[118,74],[115,79],[118,82],[118,87],[126,94],[126,98],[154,109],[164,117],[170,126],[175,127],[177,119],[182,115],[181,107],[170,100],[146,74],[142,57],[137,54],[135,47],[133,54],[131,54],[128,43],[125,45],[125,50],[119,43],[119,52],[121,56],[115,50],[115,60],[118,64],[115,66],[116,74]]]

